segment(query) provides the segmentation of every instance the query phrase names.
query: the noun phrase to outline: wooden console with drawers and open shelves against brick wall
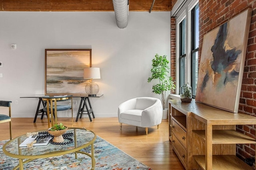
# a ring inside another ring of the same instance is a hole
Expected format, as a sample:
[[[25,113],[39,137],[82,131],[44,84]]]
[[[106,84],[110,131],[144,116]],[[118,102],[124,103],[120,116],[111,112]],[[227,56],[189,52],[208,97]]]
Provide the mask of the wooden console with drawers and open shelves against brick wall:
[[[186,170],[252,169],[236,156],[236,144],[256,145],[256,140],[236,131],[236,125],[256,125],[256,117],[194,100],[168,102],[169,139]]]

